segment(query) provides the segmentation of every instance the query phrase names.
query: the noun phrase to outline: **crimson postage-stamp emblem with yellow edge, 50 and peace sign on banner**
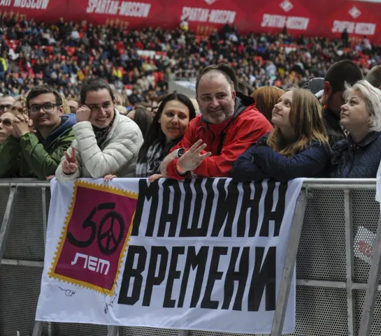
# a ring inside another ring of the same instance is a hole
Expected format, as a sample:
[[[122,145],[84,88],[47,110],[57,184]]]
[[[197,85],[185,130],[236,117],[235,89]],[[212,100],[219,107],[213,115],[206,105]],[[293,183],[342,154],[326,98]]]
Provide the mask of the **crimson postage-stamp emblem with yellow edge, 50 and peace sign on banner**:
[[[74,182],[71,205],[49,276],[113,298],[137,199],[138,194],[130,191]]]

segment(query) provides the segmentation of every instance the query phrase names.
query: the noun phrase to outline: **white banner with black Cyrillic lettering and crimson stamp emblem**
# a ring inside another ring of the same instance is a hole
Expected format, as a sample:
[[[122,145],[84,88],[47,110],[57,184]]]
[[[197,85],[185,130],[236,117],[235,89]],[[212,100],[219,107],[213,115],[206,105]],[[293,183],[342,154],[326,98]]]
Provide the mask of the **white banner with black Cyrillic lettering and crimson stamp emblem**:
[[[53,180],[36,319],[270,333],[302,184]]]

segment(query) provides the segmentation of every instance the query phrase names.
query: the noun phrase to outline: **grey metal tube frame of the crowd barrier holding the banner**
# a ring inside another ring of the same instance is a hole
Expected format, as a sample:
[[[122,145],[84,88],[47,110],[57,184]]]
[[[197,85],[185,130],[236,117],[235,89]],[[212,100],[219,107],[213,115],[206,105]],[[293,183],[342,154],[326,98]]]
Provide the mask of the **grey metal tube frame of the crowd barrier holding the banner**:
[[[311,189],[340,189],[344,192],[344,213],[345,213],[345,256],[346,256],[346,282],[331,282],[320,280],[302,280],[297,279],[296,284],[299,286],[321,286],[326,288],[345,288],[347,291],[347,328],[349,336],[369,336],[371,333],[371,326],[373,321],[373,311],[375,307],[375,299],[378,291],[381,291],[381,285],[378,284],[381,273],[381,216],[378,220],[378,228],[375,238],[375,245],[373,247],[373,256],[371,260],[371,268],[368,275],[367,284],[353,282],[354,277],[354,251],[353,247],[353,233],[352,233],[352,190],[353,189],[371,189],[374,190],[376,186],[375,179],[305,179],[301,194],[296,203],[294,218],[292,221],[292,228],[289,235],[289,242],[287,246],[287,258],[285,267],[282,272],[282,279],[280,283],[280,290],[275,307],[275,314],[273,319],[273,328],[271,336],[280,336],[285,319],[285,311],[287,308],[287,301],[289,298],[289,289],[292,284],[292,276],[294,272],[294,265],[296,263],[296,256],[299,248],[299,240],[301,238],[301,231],[303,227],[303,218],[308,198],[311,196]],[[41,187],[41,201],[43,205],[43,232],[46,240],[46,228],[48,224],[48,209],[46,188],[50,187],[50,182],[38,181],[33,179],[14,179],[14,180],[0,180],[0,187],[9,187],[10,193],[4,213],[2,225],[0,226],[0,265],[24,265],[33,267],[43,267],[41,261],[22,261],[14,259],[3,259],[3,252],[6,246],[6,239],[8,238],[10,223],[13,217],[13,210],[17,200],[17,187]],[[361,314],[361,324],[359,333],[356,333],[357,326],[354,319],[354,290],[366,290],[366,297],[364,302],[363,311]],[[32,336],[40,336],[43,330],[43,322],[36,321]],[[54,323],[48,323],[48,335],[55,335]],[[121,335],[119,326],[108,326],[107,336]],[[189,330],[178,330],[178,336],[189,335]]]

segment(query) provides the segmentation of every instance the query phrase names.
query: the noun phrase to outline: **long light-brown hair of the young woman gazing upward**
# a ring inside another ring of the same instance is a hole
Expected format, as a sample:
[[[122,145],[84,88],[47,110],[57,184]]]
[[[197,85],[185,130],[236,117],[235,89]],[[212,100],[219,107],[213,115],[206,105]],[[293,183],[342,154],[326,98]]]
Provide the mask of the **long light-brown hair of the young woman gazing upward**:
[[[328,136],[323,122],[322,105],[306,89],[297,87],[292,90],[292,103],[289,111],[289,122],[294,127],[295,140],[287,143],[280,128],[275,126],[267,139],[271,149],[279,154],[292,157],[305,149],[313,140],[329,146]]]

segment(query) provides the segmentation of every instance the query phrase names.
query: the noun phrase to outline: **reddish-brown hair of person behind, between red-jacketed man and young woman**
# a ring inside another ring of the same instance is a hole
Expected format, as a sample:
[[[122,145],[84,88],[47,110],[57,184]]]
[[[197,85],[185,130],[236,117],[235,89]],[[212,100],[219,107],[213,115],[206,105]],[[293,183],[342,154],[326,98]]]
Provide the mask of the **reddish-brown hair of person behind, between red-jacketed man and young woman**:
[[[259,87],[252,93],[255,99],[257,109],[266,119],[271,122],[274,105],[278,103],[278,99],[285,91],[279,87]],[[271,124],[273,124],[271,122]]]

